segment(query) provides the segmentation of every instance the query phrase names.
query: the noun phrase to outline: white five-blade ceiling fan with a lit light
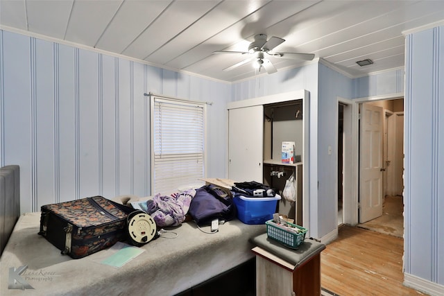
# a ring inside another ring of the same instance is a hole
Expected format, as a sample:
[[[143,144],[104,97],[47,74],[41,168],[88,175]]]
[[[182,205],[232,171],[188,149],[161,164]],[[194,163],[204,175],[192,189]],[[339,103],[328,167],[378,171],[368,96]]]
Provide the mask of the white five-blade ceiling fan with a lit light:
[[[273,53],[272,50],[285,40],[275,36],[271,37],[269,40],[266,40],[266,37],[267,36],[265,34],[255,35],[255,41],[250,43],[248,46],[248,51],[214,51],[213,53],[234,53],[250,56],[246,60],[223,69],[223,71],[230,71],[243,64],[253,61],[253,67],[255,69],[259,69],[260,71],[262,68],[264,68],[268,74],[275,73],[277,70],[271,61],[266,58],[267,55],[273,58],[284,58],[290,60],[313,60],[314,58],[313,53]]]

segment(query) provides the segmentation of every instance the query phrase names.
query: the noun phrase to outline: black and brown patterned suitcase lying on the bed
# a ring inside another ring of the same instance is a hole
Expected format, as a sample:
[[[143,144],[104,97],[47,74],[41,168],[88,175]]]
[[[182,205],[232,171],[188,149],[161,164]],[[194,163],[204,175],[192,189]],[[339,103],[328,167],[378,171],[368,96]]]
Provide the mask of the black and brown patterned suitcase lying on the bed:
[[[125,241],[126,220],[135,211],[102,196],[46,204],[41,209],[39,234],[73,259]]]

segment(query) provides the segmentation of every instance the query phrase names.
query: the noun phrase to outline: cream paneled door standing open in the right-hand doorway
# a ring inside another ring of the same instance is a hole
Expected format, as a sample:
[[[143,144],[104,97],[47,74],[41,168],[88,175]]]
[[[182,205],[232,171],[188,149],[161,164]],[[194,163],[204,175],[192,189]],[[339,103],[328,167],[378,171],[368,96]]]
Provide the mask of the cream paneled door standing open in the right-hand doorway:
[[[382,216],[382,107],[363,103],[359,143],[359,223]]]

